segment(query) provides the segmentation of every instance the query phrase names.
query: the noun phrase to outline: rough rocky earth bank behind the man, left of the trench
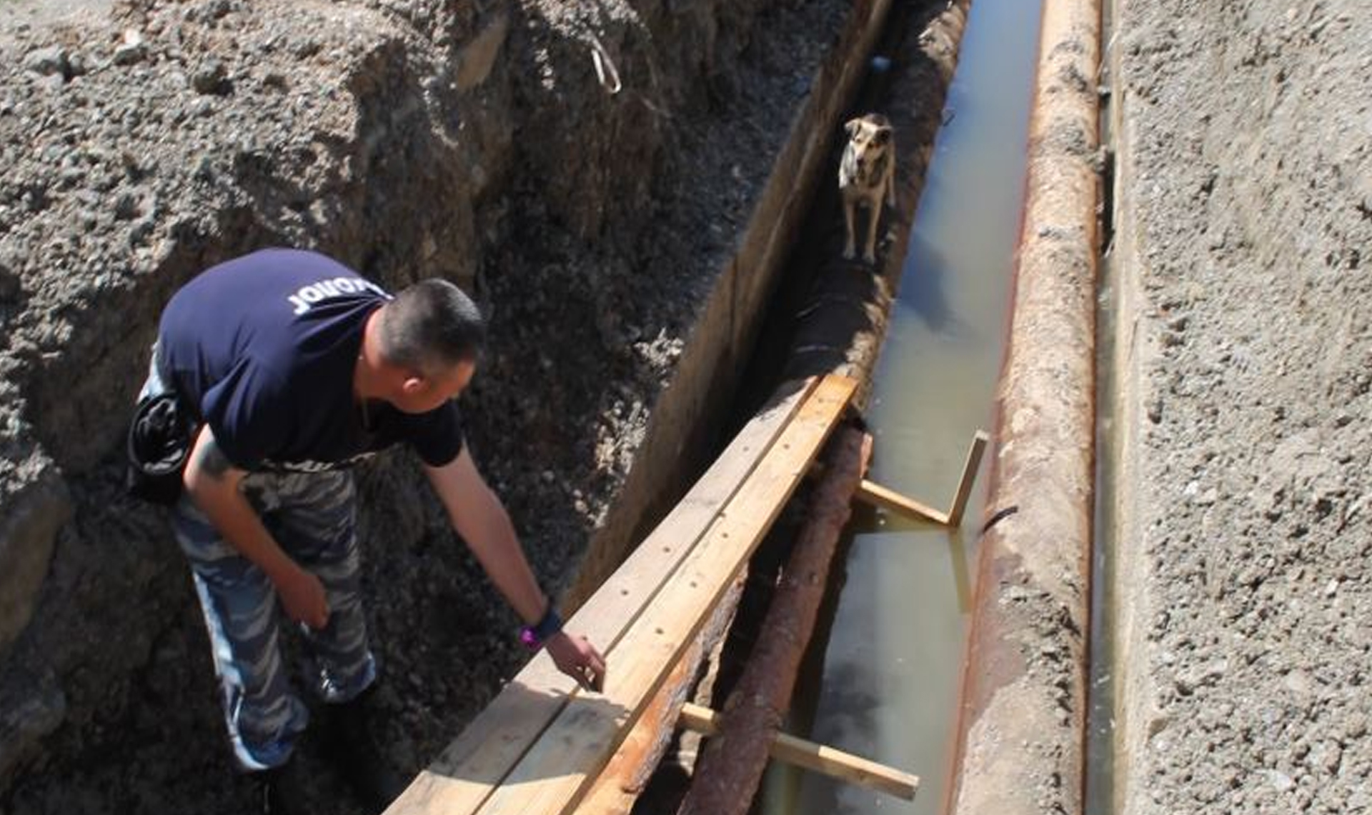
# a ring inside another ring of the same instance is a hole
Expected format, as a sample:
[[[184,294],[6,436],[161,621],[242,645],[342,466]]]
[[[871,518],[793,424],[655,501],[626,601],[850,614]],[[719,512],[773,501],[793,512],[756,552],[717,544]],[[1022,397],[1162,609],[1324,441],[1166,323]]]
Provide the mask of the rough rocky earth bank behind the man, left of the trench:
[[[469,440],[565,586],[847,10],[0,1],[0,812],[252,811],[184,565],[119,486],[181,281],[295,244],[469,287],[494,335]],[[366,586],[413,772],[523,654],[406,454],[383,458]]]

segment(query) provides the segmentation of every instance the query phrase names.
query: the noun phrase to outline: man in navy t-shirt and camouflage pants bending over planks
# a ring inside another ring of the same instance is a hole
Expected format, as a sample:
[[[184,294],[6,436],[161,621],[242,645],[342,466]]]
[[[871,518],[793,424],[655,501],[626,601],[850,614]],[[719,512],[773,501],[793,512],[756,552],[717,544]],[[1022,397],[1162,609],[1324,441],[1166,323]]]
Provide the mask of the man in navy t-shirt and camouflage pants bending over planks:
[[[362,613],[348,468],[405,442],[453,528],[528,624],[521,639],[598,687],[605,661],[539,590],[505,508],[462,443],[456,397],[484,322],[456,285],[394,298],[342,263],[266,250],[214,266],[162,314],[144,397],[173,391],[198,423],[173,517],[204,612],[237,766],[270,811],[302,810],[291,752],[307,724],[277,646],[305,633],[311,689],[335,711],[348,781],[372,807],[399,792],[365,723],[376,681]]]

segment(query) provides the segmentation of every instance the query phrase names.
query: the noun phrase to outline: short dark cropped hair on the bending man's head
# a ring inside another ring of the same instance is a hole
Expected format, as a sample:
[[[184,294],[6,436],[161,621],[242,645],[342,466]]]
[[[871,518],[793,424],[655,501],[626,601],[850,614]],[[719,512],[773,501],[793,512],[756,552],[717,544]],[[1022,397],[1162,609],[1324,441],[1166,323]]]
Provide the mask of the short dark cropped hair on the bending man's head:
[[[486,320],[451,283],[421,280],[386,305],[380,340],[387,362],[432,375],[476,359],[486,343]]]

